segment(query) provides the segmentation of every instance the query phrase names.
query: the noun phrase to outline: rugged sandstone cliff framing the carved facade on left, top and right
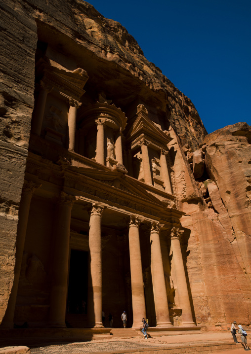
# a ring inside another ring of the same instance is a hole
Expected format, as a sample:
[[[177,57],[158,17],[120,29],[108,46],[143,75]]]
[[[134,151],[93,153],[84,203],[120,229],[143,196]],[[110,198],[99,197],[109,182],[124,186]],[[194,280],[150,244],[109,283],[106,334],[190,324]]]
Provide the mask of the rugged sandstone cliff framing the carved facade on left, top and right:
[[[149,104],[149,117],[172,138],[174,195],[186,213],[183,252],[196,322],[210,329],[227,328],[233,319],[250,324],[251,128],[238,123],[206,136],[191,101],[146,60],[123,26],[87,2],[4,0],[0,12],[0,319],[13,281],[39,40],[58,55],[71,53],[68,70],[84,68],[92,77],[86,92],[94,86],[105,91],[123,111],[134,102],[133,109]]]

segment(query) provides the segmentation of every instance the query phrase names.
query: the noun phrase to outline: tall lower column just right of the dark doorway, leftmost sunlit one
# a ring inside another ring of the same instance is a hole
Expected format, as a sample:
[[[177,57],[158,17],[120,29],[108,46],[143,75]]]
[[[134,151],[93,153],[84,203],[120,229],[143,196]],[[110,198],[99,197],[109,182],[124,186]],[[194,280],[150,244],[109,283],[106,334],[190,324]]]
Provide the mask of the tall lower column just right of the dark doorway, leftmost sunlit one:
[[[102,244],[101,217],[103,206],[93,203],[89,223],[88,325],[102,324]]]

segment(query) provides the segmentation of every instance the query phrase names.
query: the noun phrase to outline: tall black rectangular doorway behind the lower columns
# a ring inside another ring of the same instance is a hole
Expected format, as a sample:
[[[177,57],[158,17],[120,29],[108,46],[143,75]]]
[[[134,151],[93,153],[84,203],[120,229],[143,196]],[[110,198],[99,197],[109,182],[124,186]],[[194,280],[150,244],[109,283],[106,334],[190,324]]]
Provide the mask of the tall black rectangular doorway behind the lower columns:
[[[87,314],[88,252],[71,250],[67,312]]]

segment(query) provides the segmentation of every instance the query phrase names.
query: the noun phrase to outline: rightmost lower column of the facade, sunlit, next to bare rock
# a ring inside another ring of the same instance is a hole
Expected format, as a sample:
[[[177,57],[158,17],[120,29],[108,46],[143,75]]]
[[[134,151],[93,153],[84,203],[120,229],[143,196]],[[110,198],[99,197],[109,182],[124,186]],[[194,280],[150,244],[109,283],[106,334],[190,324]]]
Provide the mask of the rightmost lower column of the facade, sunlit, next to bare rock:
[[[180,247],[180,237],[182,233],[183,231],[175,227],[171,229],[171,248],[179,296],[179,307],[182,308],[182,325],[195,326],[191,311],[190,299],[186,282],[186,274]]]

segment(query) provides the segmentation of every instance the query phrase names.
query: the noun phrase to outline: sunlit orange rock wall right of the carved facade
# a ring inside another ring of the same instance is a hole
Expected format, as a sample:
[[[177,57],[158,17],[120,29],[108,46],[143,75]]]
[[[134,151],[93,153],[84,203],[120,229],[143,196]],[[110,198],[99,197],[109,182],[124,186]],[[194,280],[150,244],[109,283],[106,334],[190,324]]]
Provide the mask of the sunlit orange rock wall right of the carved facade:
[[[182,225],[191,230],[187,267],[197,297],[195,313],[198,323],[208,328],[226,328],[224,323],[233,318],[250,323],[250,134],[247,123],[237,123],[205,138],[194,153],[205,151],[206,173],[197,181],[203,198],[198,207],[189,201],[182,205]],[[238,299],[242,306],[235,305]]]

